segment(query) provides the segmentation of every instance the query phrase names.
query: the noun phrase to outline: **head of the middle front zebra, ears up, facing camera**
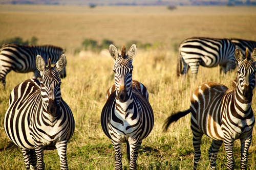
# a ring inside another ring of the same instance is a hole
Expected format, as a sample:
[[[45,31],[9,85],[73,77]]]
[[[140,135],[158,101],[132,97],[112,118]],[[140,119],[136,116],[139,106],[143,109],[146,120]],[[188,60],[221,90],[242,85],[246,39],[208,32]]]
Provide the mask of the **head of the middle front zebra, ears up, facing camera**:
[[[123,46],[121,55],[118,54],[117,48],[113,44],[110,45],[109,50],[111,57],[115,60],[113,70],[115,73],[116,98],[123,103],[132,94],[132,62],[137,53],[137,47],[133,44],[126,54],[125,46]]]

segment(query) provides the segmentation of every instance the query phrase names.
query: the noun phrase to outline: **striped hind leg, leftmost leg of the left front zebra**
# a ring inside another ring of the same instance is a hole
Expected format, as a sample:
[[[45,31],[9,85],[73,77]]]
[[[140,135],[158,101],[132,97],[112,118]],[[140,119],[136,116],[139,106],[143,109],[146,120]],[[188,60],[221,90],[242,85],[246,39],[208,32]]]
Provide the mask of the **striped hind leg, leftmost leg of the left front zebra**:
[[[20,148],[22,150],[23,159],[25,162],[26,169],[36,169],[36,155],[34,150]]]

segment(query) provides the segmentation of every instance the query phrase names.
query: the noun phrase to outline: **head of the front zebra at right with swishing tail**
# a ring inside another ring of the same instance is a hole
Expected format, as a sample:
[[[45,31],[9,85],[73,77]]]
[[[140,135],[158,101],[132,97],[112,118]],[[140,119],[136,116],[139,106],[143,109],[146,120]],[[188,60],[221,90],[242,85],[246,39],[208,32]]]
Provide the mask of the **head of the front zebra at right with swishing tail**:
[[[238,61],[238,74],[237,84],[243,92],[244,98],[251,101],[252,90],[255,88],[255,60],[256,60],[256,48],[249,55],[249,50],[246,48],[245,56],[238,48],[234,53]]]

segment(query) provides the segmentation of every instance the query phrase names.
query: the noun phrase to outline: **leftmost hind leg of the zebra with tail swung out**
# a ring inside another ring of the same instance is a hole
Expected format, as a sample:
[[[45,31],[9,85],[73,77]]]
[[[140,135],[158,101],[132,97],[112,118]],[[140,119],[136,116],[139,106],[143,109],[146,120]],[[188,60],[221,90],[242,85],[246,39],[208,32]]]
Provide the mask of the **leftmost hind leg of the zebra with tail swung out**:
[[[195,131],[193,131],[193,147],[194,147],[194,165],[193,165],[193,169],[196,170],[197,169],[197,165],[199,162],[199,159],[201,157],[201,139],[202,139],[203,134],[202,133],[195,133]]]

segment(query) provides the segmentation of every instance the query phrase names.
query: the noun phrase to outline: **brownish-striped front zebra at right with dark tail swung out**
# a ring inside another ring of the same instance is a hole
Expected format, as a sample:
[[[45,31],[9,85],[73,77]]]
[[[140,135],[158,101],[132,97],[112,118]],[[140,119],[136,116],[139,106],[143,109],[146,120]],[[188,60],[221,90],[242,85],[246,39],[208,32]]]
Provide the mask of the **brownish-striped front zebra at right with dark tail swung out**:
[[[191,95],[190,109],[174,113],[165,120],[164,128],[191,112],[191,130],[195,150],[194,169],[201,156],[201,138],[206,134],[212,138],[209,148],[211,169],[216,168],[217,152],[224,142],[227,154],[227,168],[234,168],[232,153],[233,142],[241,140],[241,169],[246,169],[248,149],[252,139],[254,114],[251,109],[252,90],[255,87],[256,48],[251,57],[248,48],[243,56],[239,49],[235,51],[238,60],[237,78],[233,88],[218,83],[204,83]]]

